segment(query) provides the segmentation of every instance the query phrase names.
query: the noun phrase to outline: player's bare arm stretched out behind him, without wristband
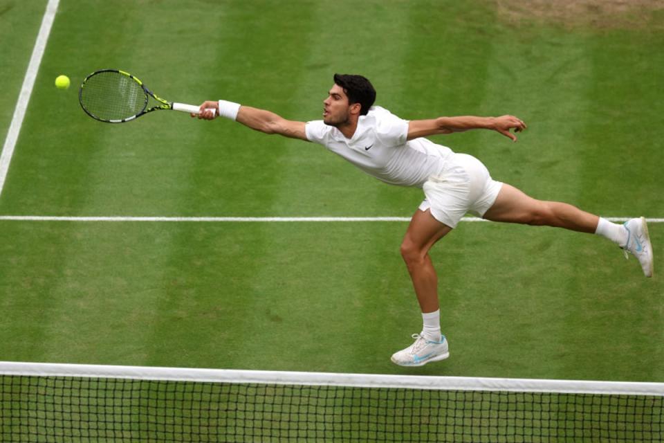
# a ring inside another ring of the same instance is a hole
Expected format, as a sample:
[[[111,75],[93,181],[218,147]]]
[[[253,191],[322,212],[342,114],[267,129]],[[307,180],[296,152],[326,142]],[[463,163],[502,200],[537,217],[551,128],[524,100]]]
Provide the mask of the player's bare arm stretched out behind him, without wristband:
[[[506,137],[517,141],[517,136],[510,132],[526,129],[526,124],[515,116],[500,117],[439,117],[429,120],[411,120],[408,123],[408,140],[413,138],[433,136],[436,134],[452,134],[452,132],[463,132],[468,129],[491,129]]]

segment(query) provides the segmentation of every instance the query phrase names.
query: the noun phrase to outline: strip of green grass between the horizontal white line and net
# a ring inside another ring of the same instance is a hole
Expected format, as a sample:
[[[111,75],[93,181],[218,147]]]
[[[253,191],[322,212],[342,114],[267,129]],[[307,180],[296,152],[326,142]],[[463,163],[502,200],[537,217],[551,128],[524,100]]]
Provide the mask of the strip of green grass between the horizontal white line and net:
[[[434,253],[453,358],[404,370],[380,356],[421,326],[405,224],[3,225],[3,287],[21,297],[0,329],[19,361],[661,377],[661,293],[593,237],[462,224]]]

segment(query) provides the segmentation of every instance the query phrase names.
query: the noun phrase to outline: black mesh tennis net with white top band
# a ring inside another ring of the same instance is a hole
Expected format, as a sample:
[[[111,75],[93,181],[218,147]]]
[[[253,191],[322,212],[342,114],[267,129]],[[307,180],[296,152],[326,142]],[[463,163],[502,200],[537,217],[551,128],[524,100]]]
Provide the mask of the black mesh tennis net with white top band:
[[[662,442],[664,383],[0,362],[2,442]]]

